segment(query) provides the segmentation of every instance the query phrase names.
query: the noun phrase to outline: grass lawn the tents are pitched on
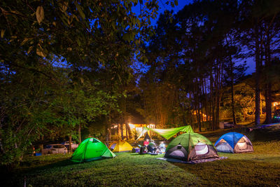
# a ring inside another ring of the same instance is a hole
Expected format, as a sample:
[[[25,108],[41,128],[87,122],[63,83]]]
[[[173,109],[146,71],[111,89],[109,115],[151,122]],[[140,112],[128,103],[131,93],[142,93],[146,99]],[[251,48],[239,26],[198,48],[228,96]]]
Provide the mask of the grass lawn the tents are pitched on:
[[[204,136],[216,141],[224,133]],[[219,153],[227,160],[189,165],[156,159],[163,155],[116,153],[113,159],[73,163],[70,154],[44,155],[25,158],[2,182],[5,186],[25,182],[26,186],[280,186],[280,130],[246,135],[255,152]]]

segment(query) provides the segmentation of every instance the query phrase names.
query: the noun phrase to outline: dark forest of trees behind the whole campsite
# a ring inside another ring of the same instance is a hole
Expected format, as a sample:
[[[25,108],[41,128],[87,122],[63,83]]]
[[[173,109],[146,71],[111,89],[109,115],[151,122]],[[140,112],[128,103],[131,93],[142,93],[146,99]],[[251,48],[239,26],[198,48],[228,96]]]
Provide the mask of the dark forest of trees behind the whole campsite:
[[[201,131],[216,130],[221,116],[236,124],[253,115],[258,125],[264,109],[272,122],[280,2],[193,1],[153,27],[159,3],[1,1],[2,164],[82,132],[109,141],[112,124],[130,132],[133,116]],[[255,73],[245,76],[248,57]]]

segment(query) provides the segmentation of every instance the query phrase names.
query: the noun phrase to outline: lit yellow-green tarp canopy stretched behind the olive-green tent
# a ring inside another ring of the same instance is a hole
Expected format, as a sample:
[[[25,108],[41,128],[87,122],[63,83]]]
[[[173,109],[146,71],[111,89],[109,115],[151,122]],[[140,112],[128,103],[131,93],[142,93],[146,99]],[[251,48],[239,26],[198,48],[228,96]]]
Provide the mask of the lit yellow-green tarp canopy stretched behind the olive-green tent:
[[[151,130],[155,133],[160,134],[160,136],[164,137],[165,139],[170,139],[178,132],[193,132],[193,129],[190,125],[183,126],[183,127],[177,127],[177,128],[173,128],[173,129],[154,129],[154,128],[149,128],[149,127],[144,127],[144,130],[141,132],[141,134],[139,135],[139,137],[137,139],[142,137],[148,130]]]

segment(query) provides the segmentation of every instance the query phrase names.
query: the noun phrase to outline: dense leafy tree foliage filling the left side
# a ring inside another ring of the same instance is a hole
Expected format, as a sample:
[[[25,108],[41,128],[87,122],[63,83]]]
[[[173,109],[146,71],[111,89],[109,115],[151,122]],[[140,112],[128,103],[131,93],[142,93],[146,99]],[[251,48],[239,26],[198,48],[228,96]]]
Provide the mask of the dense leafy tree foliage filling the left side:
[[[17,0],[0,9],[1,163],[18,162],[35,141],[80,140],[96,120],[108,131],[158,2]]]

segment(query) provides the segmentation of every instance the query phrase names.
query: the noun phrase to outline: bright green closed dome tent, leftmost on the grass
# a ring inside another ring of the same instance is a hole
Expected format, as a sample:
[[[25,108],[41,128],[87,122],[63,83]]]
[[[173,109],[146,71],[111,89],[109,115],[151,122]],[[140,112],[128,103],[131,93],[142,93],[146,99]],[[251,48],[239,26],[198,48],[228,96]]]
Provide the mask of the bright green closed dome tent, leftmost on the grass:
[[[90,162],[102,158],[114,158],[116,155],[105,144],[95,138],[85,139],[73,153],[73,162]]]

